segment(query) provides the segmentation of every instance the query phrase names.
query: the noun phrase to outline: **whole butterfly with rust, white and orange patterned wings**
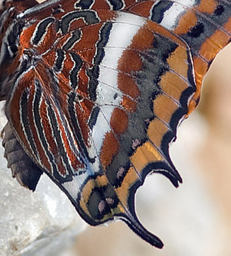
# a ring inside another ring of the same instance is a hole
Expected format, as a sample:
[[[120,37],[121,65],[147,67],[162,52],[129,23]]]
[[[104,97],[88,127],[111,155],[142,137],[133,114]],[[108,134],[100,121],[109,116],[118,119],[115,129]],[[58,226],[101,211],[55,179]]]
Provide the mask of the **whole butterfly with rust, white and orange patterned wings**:
[[[230,0],[0,1],[3,146],[12,176],[46,173],[90,225],[120,219],[157,248],[134,198],[169,157],[216,54]]]

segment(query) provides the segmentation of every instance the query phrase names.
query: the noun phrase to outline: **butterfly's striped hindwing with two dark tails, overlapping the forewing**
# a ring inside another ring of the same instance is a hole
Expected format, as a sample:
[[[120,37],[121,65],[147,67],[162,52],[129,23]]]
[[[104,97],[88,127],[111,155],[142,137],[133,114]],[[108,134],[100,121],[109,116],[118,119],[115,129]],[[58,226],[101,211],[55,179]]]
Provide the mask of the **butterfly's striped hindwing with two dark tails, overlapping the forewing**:
[[[148,173],[181,182],[167,149],[196,89],[187,44],[111,10],[46,17],[19,42],[24,68],[6,114],[26,153],[88,223],[119,218],[162,247],[139,223],[134,195]]]

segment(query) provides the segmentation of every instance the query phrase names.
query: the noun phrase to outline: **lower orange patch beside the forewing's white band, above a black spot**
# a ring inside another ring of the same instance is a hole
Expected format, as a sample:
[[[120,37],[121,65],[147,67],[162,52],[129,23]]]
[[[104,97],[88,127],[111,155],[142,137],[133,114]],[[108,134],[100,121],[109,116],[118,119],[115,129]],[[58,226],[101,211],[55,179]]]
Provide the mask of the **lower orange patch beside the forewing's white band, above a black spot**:
[[[175,28],[174,33],[177,35],[185,34],[190,31],[191,28],[196,26],[197,18],[193,10],[188,10],[178,22],[178,26]]]

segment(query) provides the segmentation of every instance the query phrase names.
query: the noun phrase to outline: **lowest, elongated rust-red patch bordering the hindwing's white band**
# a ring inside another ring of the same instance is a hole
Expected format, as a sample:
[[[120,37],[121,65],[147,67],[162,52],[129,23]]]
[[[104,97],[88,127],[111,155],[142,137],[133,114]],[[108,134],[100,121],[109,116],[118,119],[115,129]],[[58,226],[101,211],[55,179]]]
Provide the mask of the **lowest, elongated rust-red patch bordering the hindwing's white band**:
[[[112,132],[106,133],[100,152],[100,162],[104,169],[111,163],[113,156],[118,152],[118,140]]]

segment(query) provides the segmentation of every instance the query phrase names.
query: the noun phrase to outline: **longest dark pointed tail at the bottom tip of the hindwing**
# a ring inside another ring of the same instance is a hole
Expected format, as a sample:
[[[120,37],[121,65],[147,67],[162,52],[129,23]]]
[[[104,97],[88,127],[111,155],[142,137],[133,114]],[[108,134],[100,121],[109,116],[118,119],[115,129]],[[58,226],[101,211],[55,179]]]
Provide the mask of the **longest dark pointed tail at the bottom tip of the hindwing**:
[[[151,244],[151,246],[155,246],[156,248],[163,248],[163,242],[156,237],[155,234],[149,232],[145,227],[138,221],[136,216],[126,216],[122,219],[133,232],[135,232],[138,237],[147,241],[147,243]]]

